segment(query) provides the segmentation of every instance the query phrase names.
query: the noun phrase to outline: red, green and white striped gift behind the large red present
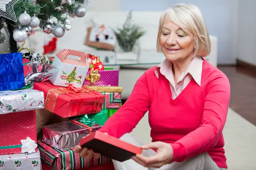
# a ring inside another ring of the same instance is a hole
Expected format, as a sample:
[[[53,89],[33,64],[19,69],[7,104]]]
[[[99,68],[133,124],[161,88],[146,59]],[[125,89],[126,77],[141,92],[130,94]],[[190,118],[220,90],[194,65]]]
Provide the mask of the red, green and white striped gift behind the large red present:
[[[121,93],[100,92],[105,95],[102,109],[119,109],[121,107]]]

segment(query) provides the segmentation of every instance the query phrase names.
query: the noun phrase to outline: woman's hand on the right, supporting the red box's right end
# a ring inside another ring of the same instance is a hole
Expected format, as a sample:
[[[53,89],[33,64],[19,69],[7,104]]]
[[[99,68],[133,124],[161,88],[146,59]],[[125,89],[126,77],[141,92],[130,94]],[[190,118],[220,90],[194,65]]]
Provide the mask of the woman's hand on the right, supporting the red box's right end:
[[[142,146],[143,149],[157,149],[157,154],[146,157],[140,154],[133,156],[131,159],[144,167],[160,168],[165,164],[170,164],[173,158],[173,150],[170,144],[165,142],[152,142]]]

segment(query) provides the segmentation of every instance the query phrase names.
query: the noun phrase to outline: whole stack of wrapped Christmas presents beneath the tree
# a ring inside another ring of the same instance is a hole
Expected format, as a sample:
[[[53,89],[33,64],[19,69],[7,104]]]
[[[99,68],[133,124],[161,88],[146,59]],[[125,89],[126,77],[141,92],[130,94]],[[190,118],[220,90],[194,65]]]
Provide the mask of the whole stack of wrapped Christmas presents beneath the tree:
[[[0,54],[0,170],[114,170],[74,153],[121,107],[119,71],[63,49],[52,64]]]

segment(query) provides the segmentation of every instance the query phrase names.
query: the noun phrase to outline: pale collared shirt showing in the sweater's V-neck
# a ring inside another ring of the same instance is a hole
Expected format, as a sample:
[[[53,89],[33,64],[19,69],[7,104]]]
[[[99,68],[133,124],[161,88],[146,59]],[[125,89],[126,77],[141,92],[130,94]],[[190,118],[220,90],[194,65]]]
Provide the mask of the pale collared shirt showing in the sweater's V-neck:
[[[194,79],[195,82],[201,86],[201,75],[202,75],[202,67],[203,67],[203,59],[201,57],[194,57],[190,62],[188,68],[185,72],[183,72],[177,80],[175,85],[174,76],[172,73],[172,65],[171,61],[165,59],[155,68],[155,74],[157,78],[159,78],[160,73],[166,77],[166,79],[170,82],[170,87],[172,91],[172,99],[175,99],[181,91],[189,84],[189,82]]]

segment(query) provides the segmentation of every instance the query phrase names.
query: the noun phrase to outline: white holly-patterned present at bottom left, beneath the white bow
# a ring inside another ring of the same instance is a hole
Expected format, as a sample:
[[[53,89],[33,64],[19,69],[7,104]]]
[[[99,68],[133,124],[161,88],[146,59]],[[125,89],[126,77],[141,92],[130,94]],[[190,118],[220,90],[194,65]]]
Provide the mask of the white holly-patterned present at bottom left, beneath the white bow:
[[[39,150],[36,153],[0,155],[1,170],[41,170]]]

